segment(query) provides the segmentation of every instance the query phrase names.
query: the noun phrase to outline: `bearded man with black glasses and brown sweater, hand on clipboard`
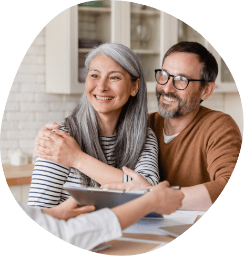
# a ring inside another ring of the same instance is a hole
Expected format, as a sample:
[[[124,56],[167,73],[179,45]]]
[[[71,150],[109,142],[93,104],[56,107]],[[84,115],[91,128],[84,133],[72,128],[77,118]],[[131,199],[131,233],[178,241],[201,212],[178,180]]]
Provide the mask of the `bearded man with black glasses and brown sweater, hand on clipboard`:
[[[158,112],[149,125],[159,143],[160,180],[181,186],[184,210],[202,210],[216,201],[236,166],[241,134],[225,113],[200,106],[215,90],[218,64],[196,42],[180,42],[155,70]],[[147,182],[132,170],[133,181],[103,187],[141,189]]]

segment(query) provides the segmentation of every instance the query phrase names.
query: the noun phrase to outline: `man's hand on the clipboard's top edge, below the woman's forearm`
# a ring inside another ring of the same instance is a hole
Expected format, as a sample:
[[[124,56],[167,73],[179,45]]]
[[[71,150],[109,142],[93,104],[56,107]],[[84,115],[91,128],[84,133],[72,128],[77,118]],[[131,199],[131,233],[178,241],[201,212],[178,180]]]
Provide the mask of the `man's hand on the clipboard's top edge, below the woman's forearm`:
[[[150,188],[150,183],[139,173],[134,172],[127,167],[123,167],[123,172],[128,175],[129,177],[133,178],[130,182],[123,182],[123,183],[110,183],[100,186],[100,188],[109,188],[109,189],[121,189],[121,190],[140,190]]]

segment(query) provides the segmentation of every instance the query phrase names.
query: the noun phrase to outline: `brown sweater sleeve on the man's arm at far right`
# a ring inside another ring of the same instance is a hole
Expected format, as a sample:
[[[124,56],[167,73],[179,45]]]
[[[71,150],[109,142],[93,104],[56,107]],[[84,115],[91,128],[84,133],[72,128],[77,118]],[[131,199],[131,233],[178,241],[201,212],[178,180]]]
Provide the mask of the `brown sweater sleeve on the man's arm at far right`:
[[[236,122],[220,113],[209,120],[206,129],[205,146],[210,182],[204,183],[212,203],[225,188],[236,166],[242,138]]]

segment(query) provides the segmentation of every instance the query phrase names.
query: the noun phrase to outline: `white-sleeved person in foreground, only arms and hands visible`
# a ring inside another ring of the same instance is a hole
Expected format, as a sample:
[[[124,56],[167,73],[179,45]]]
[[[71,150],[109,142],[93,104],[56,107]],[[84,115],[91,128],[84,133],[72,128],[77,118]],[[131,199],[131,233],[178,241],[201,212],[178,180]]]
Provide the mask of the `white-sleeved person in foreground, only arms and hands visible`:
[[[165,181],[154,186],[152,191],[126,204],[82,216],[79,215],[93,211],[95,207],[78,207],[73,198],[53,208],[28,207],[22,203],[20,206],[31,219],[48,232],[79,248],[92,250],[100,243],[119,238],[122,235],[121,230],[150,212],[175,212],[181,206],[183,197],[184,194],[180,190],[170,188],[169,183]]]

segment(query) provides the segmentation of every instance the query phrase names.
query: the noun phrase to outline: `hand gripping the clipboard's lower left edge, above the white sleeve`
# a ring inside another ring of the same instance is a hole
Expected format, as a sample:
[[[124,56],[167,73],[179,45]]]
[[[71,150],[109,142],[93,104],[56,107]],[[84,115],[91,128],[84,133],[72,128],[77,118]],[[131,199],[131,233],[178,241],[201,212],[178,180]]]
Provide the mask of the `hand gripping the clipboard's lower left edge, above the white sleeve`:
[[[68,198],[64,203],[53,208],[42,208],[42,212],[55,217],[58,220],[67,221],[70,218],[77,217],[81,214],[92,212],[95,210],[94,205],[80,207],[74,198]]]

